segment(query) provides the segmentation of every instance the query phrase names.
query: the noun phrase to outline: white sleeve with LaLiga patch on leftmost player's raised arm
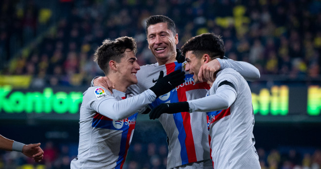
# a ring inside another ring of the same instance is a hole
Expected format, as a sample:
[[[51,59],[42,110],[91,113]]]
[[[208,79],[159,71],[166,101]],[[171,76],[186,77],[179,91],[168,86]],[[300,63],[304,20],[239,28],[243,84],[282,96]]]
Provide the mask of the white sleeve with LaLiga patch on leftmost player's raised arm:
[[[88,106],[91,110],[114,120],[122,120],[137,113],[156,98],[156,94],[151,90],[146,90],[141,94],[123,100],[117,100],[109,91],[104,90],[106,91],[105,95],[98,98],[95,95],[95,89],[97,87],[92,91],[88,91],[90,95],[94,95],[94,97],[91,96],[92,99]]]

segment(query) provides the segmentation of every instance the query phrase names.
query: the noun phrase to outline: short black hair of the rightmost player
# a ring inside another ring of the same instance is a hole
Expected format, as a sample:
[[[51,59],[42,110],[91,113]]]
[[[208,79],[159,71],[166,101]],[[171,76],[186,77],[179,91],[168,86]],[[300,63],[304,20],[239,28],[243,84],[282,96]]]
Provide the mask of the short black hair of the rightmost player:
[[[223,58],[225,48],[221,36],[213,33],[205,33],[196,37],[190,38],[182,47],[182,55],[185,56],[186,52],[193,51],[196,57],[200,58],[204,54],[208,54],[211,59]]]

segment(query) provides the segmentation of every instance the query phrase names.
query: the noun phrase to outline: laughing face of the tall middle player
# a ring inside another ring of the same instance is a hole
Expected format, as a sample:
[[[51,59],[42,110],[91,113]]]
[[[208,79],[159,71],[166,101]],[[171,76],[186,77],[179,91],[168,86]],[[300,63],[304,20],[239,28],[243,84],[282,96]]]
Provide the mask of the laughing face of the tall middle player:
[[[148,48],[160,64],[174,62],[176,45],[179,43],[178,34],[167,29],[167,23],[157,23],[147,28]]]

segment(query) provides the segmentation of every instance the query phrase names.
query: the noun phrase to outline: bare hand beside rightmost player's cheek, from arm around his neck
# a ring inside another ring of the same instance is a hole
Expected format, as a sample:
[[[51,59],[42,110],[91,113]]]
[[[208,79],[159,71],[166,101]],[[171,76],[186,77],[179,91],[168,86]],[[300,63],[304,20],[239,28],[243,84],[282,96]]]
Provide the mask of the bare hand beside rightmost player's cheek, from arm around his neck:
[[[217,71],[219,71],[220,69],[221,64],[218,59],[213,59],[208,63],[204,63],[203,65],[201,65],[200,72],[198,75],[200,82],[206,80],[214,82]]]

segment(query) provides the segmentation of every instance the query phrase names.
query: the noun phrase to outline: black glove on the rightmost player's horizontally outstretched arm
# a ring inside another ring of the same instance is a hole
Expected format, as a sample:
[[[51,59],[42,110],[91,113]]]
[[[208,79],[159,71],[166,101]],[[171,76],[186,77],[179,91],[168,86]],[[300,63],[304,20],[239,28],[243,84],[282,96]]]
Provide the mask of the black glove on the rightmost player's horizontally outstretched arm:
[[[189,105],[187,101],[177,103],[162,103],[149,113],[149,119],[159,118],[162,113],[174,114],[179,112],[189,112]]]

